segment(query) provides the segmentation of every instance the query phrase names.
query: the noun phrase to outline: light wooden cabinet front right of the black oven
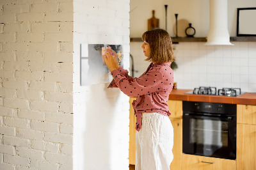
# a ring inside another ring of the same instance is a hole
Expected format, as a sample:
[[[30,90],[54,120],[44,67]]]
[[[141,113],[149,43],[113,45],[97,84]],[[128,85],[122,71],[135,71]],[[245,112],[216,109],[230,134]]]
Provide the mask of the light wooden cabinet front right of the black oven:
[[[256,105],[237,105],[237,170],[256,169]]]

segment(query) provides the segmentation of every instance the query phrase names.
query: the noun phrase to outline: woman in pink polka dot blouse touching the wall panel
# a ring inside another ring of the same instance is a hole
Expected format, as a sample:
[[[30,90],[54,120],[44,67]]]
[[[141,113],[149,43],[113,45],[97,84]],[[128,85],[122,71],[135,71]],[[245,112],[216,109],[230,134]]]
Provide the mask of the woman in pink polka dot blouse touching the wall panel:
[[[116,54],[108,50],[106,61],[113,81],[109,88],[120,88],[125,95],[137,97],[132,102],[136,115],[136,169],[170,169],[173,160],[173,127],[167,101],[173,88],[174,61],[172,40],[163,29],[146,31],[141,45],[145,61],[151,61],[146,72],[132,78],[118,65]],[[113,54],[113,56],[112,56]]]

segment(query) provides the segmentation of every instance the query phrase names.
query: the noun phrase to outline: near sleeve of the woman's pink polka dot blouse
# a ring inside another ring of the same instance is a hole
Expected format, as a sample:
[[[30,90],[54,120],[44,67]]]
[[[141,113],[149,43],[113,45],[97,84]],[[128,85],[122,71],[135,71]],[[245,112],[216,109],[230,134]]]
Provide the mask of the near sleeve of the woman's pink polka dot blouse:
[[[144,75],[141,75],[140,78],[133,79],[132,81],[129,81],[129,79],[118,72],[118,70],[113,70],[111,74],[114,77],[116,86],[129,97],[150,95],[150,93],[161,91],[162,89],[159,85],[162,84],[163,81],[168,81],[168,79],[164,80],[163,73],[159,70],[149,70]]]

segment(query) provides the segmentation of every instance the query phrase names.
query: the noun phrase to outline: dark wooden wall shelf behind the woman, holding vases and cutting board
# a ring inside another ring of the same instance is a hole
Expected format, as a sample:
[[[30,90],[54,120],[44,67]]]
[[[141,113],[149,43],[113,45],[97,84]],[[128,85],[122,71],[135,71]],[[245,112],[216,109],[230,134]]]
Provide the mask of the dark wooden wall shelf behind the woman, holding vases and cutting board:
[[[142,40],[141,38],[130,38],[130,42],[142,42]],[[172,42],[206,42],[206,37],[172,37]],[[256,42],[256,36],[232,36],[230,42]]]

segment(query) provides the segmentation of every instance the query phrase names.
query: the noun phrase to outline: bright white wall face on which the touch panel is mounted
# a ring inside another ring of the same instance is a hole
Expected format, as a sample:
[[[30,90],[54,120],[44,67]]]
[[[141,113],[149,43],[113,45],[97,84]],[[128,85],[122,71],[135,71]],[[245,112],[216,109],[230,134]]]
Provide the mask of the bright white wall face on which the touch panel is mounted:
[[[124,45],[129,68],[129,0],[74,0],[74,168],[129,169],[129,97],[108,84],[80,86],[80,44]]]

